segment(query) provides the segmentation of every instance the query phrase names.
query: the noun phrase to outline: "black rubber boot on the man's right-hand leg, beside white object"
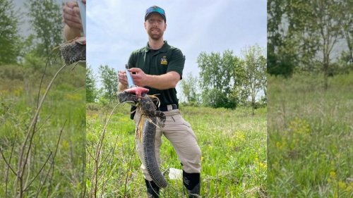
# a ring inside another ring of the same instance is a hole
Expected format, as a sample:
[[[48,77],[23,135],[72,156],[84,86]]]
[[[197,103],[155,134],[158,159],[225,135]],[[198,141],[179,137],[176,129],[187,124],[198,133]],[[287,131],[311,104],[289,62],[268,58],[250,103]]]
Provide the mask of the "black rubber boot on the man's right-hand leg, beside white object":
[[[199,197],[201,190],[200,173],[186,173],[183,170],[183,183],[188,191],[189,198]]]

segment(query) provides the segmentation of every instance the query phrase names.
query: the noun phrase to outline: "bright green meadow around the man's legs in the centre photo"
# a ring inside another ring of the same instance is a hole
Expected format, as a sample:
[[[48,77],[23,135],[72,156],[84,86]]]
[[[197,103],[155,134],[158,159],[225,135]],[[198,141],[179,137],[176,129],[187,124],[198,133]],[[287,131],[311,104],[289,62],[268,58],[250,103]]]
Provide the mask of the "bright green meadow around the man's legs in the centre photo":
[[[86,194],[145,197],[130,106],[118,104],[116,109],[114,106],[87,104]],[[181,106],[180,109],[201,147],[202,197],[265,197],[266,109],[256,109],[255,116],[251,116],[250,108]],[[185,197],[181,178],[169,179],[169,168],[181,169],[181,165],[164,136],[160,150],[160,169],[169,183],[160,197]]]

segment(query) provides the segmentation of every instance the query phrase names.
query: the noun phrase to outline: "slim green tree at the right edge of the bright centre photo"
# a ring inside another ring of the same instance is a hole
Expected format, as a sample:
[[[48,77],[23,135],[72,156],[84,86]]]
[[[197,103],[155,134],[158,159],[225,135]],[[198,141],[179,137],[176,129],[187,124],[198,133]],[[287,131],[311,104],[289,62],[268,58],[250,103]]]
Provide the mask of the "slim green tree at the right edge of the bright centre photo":
[[[244,48],[241,51],[246,71],[245,87],[250,91],[252,114],[255,114],[256,97],[263,90],[265,93],[266,80],[266,58],[263,49],[258,45]]]

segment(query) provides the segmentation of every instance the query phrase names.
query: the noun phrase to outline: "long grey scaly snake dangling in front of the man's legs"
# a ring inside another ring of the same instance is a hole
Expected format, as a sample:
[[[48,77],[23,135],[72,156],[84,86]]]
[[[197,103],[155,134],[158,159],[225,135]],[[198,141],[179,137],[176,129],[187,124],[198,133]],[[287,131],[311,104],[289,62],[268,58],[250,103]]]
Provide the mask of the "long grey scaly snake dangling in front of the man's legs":
[[[142,147],[143,147],[143,164],[148,174],[159,187],[167,187],[167,181],[160,172],[157,159],[155,158],[155,131],[157,126],[164,127],[166,117],[162,111],[157,111],[155,104],[147,94],[148,89],[144,87],[133,87],[119,92],[117,97],[119,102],[133,101],[141,109],[141,118],[146,116],[148,119],[141,119],[142,125]]]

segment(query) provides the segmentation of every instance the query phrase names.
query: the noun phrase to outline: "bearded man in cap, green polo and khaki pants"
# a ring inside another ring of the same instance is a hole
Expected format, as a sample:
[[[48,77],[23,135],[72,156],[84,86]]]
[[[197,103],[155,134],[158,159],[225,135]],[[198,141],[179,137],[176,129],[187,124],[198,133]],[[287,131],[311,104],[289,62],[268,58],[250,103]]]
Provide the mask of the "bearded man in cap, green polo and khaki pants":
[[[164,128],[157,128],[155,135],[155,154],[160,166],[161,137],[164,135],[172,142],[183,166],[183,183],[189,197],[200,194],[201,150],[196,136],[180,114],[178,109],[177,91],[175,87],[181,80],[185,58],[181,51],[169,46],[163,39],[167,28],[164,10],[152,6],[145,13],[145,30],[148,33],[148,44],[142,49],[133,51],[128,59],[129,72],[133,82],[139,87],[150,89],[148,94],[156,94],[160,99],[158,110],[164,111],[167,120]],[[119,71],[119,90],[127,88],[125,70]],[[133,120],[138,126],[140,112],[136,112]],[[143,150],[136,140],[138,155],[142,161]],[[149,197],[158,197],[159,187],[152,181],[148,171],[141,165]]]

